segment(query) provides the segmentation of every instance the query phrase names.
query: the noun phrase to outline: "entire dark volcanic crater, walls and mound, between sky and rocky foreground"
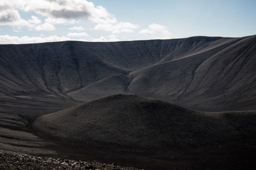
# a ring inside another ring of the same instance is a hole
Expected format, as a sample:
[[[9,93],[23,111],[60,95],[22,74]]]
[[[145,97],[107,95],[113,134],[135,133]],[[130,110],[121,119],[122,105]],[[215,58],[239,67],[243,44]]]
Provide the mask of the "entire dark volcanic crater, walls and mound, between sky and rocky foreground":
[[[255,65],[256,35],[0,45],[0,152],[255,169]]]

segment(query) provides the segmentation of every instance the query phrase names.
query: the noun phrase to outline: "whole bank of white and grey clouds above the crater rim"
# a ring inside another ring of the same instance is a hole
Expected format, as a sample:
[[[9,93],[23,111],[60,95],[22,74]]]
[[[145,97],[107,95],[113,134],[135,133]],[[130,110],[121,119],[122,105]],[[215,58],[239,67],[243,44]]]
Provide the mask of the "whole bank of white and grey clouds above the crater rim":
[[[85,22],[91,22],[92,25],[89,24],[91,28],[85,28],[83,25]],[[125,35],[130,33],[148,35],[149,39],[152,39],[152,36],[156,39],[171,37],[166,26],[154,23],[139,31],[138,24],[118,21],[106,8],[95,6],[87,0],[1,0],[0,26],[5,26],[5,28],[10,26],[13,33],[19,35],[10,35],[10,30],[5,35],[0,34],[0,43],[3,44],[74,39],[78,41],[120,41],[117,35],[124,40],[123,37],[131,37]],[[4,32],[2,29],[0,31]],[[28,33],[29,31],[33,31],[34,36],[31,32]],[[92,37],[94,32],[99,32],[97,36],[104,36]],[[78,39],[79,37],[90,38],[87,40]]]

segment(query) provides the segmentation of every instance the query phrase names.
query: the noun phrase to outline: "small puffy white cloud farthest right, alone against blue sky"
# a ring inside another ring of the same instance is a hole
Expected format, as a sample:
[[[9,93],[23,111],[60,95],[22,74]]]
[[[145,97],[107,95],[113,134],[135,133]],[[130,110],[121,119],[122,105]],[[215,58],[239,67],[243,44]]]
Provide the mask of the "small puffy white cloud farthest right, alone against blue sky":
[[[156,33],[161,33],[162,37],[157,37],[158,39],[169,39],[172,36],[172,33],[167,30],[166,26],[160,24],[150,24],[147,29],[140,30],[141,34],[153,35]]]

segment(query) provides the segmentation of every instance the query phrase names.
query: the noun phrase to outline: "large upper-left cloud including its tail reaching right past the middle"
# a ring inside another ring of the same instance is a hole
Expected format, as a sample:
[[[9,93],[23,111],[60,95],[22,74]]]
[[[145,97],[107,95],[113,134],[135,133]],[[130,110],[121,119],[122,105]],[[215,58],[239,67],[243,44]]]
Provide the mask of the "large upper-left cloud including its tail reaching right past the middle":
[[[28,27],[29,30],[55,30],[55,24],[75,24],[82,19],[97,23],[94,30],[114,34],[132,33],[139,27],[130,22],[118,22],[106,8],[86,0],[1,0],[0,11],[0,25]],[[20,17],[19,11],[35,12],[39,17],[32,16],[26,21]],[[44,24],[40,17],[45,18]]]

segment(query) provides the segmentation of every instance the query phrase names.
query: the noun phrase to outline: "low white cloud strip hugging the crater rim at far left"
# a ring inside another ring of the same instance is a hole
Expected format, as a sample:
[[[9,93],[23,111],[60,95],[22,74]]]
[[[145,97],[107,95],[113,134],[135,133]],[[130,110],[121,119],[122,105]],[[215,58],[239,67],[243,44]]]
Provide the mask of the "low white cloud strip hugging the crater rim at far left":
[[[71,40],[68,37],[62,36],[58,37],[57,35],[51,35],[49,37],[17,37],[10,35],[0,35],[1,44],[24,44],[24,43],[39,43],[39,42],[55,42],[55,41],[68,41]]]

